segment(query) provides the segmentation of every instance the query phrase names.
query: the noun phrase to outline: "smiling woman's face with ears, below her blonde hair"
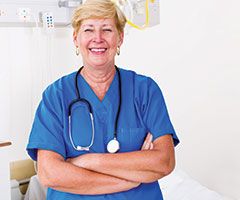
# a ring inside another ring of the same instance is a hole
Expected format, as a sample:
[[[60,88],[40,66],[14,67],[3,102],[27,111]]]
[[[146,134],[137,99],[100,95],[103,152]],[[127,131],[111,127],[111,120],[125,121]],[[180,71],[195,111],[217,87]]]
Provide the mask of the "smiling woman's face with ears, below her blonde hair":
[[[74,43],[79,47],[84,66],[109,67],[114,65],[117,47],[123,41],[114,19],[86,19],[78,33],[73,34]]]

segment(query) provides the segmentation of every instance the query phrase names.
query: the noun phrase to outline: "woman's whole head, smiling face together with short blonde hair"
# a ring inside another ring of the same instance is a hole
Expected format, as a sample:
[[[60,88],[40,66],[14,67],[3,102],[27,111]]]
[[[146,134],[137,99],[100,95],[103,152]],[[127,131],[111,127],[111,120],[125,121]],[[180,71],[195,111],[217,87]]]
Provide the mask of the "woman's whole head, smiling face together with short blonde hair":
[[[72,24],[74,43],[76,49],[80,48],[84,66],[112,68],[126,24],[120,9],[111,1],[88,1],[76,10]]]

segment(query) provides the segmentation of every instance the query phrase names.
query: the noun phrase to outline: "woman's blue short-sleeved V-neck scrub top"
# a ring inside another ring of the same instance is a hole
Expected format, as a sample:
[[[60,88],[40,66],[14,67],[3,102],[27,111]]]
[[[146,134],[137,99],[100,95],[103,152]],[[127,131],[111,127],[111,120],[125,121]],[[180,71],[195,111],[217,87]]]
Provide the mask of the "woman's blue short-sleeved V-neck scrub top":
[[[95,138],[89,152],[76,151],[69,139],[68,109],[70,103],[77,98],[75,75],[76,72],[60,78],[43,93],[27,146],[28,154],[33,160],[37,160],[37,149],[54,151],[65,159],[91,152],[107,153],[106,147],[114,135],[114,124],[119,105],[117,73],[102,101],[98,99],[84,78],[81,75],[78,76],[81,98],[87,99],[93,109]],[[140,150],[148,132],[153,134],[153,139],[171,134],[176,146],[179,140],[169,119],[166,104],[158,85],[151,78],[138,75],[133,71],[120,69],[120,75],[122,105],[117,128],[117,139],[120,142],[119,152]],[[85,110],[84,105],[77,107]],[[72,117],[76,118],[78,113],[74,110],[77,109],[73,108],[75,116]],[[84,116],[84,112],[82,116]],[[82,122],[80,120],[79,123]],[[81,146],[88,145],[92,136],[91,123],[83,125],[85,132],[74,131],[76,129],[74,124],[77,123],[73,119],[74,143]],[[155,181],[143,183],[137,188],[125,192],[105,195],[76,195],[48,188],[47,199],[161,200],[162,194],[158,181]]]

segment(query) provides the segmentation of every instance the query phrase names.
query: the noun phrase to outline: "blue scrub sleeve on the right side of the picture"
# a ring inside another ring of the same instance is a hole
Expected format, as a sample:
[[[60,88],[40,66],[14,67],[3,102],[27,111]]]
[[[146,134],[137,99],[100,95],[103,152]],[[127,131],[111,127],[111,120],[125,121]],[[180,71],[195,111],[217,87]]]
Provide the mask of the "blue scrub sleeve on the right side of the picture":
[[[143,121],[154,139],[171,134],[174,146],[179,143],[173,125],[170,121],[163,94],[151,78],[148,78],[142,103]]]

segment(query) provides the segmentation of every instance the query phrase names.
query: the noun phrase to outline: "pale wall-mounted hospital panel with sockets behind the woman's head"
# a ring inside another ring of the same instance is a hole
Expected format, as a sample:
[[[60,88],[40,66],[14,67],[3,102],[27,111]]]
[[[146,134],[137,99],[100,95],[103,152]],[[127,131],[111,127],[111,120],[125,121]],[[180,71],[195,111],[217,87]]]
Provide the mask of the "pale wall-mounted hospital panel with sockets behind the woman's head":
[[[112,0],[122,9],[128,24],[138,29],[160,23],[159,0]],[[42,26],[47,30],[71,23],[73,10],[83,0],[1,0],[0,26]]]

